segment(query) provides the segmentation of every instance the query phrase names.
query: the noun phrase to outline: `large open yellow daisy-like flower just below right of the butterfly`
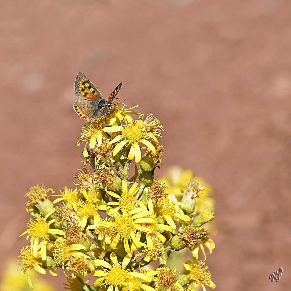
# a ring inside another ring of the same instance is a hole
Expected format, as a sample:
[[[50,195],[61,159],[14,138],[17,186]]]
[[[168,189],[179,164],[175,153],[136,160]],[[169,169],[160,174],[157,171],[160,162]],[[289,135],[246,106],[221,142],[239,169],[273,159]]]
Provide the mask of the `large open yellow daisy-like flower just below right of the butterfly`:
[[[156,153],[154,145],[150,141],[146,140],[146,138],[151,138],[155,142],[158,142],[158,140],[152,132],[147,131],[147,126],[143,125],[142,120],[126,121],[125,126],[108,126],[104,128],[104,131],[108,133],[121,133],[108,143],[117,143],[112,152],[113,156],[115,156],[126,144],[128,144],[129,153],[127,159],[133,160],[135,158],[135,162],[139,163],[141,161],[141,149],[139,143],[143,143],[153,153]],[[122,139],[124,140],[120,141]]]

